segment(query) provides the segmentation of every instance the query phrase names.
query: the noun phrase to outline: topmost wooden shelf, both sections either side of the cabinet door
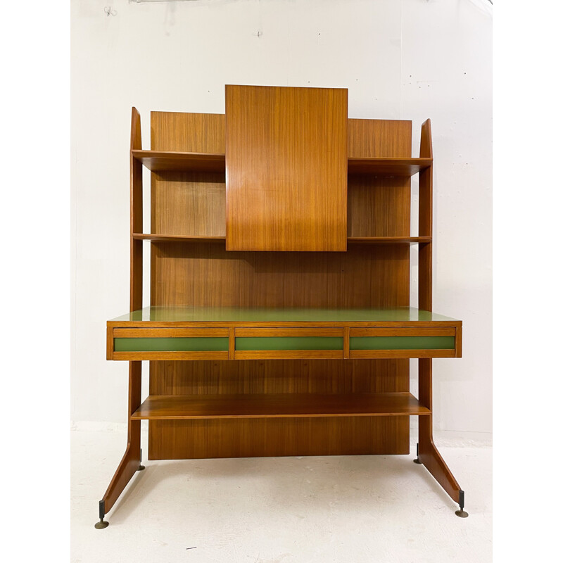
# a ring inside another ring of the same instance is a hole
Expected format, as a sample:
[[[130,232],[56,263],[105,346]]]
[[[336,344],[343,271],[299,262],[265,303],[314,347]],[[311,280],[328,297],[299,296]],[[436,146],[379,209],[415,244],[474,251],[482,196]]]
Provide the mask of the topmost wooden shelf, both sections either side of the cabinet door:
[[[172,151],[131,151],[133,158],[148,170],[181,172],[224,172],[225,157],[220,153],[181,153]],[[348,174],[412,176],[432,164],[431,158],[348,158]]]

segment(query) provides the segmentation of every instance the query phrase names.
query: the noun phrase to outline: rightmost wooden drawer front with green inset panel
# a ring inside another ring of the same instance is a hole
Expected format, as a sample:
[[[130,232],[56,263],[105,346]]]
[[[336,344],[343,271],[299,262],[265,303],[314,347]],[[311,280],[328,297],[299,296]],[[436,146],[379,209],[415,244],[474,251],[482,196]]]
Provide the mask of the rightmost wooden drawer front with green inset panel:
[[[350,358],[455,358],[458,344],[455,327],[350,329]]]

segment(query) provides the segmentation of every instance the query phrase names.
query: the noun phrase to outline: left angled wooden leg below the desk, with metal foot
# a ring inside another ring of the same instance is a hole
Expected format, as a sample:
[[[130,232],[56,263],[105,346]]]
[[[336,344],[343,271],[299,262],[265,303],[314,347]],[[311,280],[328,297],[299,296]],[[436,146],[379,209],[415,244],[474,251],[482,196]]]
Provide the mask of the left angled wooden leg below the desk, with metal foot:
[[[100,521],[96,523],[97,529],[106,528],[108,522],[103,517],[111,510],[118,500],[119,495],[129,483],[132,476],[144,469],[141,465],[141,421],[131,420],[130,417],[141,404],[141,362],[129,362],[129,409],[127,425],[127,448],[118,469],[108,486],[106,494],[100,500]]]

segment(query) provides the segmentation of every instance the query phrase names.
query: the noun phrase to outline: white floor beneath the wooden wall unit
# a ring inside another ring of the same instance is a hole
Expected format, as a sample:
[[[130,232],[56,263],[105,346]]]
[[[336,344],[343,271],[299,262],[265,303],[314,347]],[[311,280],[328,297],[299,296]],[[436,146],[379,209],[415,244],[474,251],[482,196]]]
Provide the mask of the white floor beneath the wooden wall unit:
[[[486,563],[488,447],[440,448],[469,518],[410,456],[144,462],[94,529],[121,431],[72,431],[72,563]],[[438,442],[438,447],[440,446]],[[146,450],[145,450],[146,451]]]

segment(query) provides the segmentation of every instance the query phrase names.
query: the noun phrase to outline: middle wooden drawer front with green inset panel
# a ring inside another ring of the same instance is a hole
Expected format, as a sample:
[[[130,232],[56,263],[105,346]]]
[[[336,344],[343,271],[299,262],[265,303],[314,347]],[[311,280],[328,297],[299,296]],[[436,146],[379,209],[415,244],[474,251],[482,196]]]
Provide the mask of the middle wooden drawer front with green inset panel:
[[[344,329],[235,329],[236,360],[343,357]]]

